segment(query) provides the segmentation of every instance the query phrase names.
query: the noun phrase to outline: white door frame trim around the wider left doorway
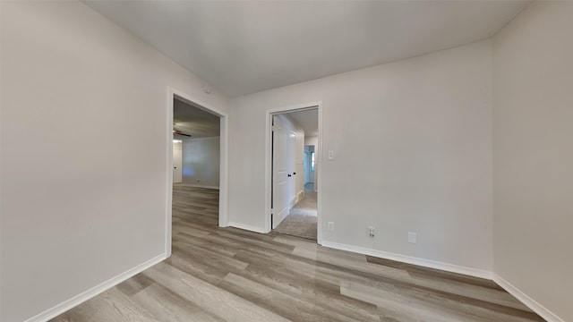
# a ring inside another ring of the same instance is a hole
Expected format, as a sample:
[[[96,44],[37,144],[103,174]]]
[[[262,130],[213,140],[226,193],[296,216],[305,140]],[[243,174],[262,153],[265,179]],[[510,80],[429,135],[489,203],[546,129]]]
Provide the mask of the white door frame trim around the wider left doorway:
[[[166,242],[165,252],[167,257],[171,256],[171,238],[173,233],[172,228],[172,207],[173,207],[173,101],[180,99],[184,102],[190,103],[193,106],[199,107],[211,114],[218,115],[220,119],[220,137],[219,137],[219,194],[218,194],[218,226],[228,226],[228,133],[229,122],[228,114],[220,109],[210,106],[201,100],[171,87],[167,87],[167,180],[166,180]]]

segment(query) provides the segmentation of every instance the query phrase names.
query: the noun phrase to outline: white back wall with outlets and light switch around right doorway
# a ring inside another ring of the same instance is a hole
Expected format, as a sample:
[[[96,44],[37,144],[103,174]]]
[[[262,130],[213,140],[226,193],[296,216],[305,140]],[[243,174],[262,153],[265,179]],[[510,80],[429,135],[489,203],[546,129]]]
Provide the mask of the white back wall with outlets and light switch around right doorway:
[[[230,221],[264,230],[265,111],[322,101],[323,241],[487,274],[490,84],[486,40],[231,100]]]

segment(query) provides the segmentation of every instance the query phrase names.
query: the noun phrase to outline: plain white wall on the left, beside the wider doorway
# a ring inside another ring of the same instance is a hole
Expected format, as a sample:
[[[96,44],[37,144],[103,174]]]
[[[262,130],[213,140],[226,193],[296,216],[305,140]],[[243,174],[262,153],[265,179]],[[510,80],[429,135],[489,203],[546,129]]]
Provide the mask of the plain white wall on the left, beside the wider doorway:
[[[0,5],[7,322],[165,254],[167,86],[227,99],[84,4]]]

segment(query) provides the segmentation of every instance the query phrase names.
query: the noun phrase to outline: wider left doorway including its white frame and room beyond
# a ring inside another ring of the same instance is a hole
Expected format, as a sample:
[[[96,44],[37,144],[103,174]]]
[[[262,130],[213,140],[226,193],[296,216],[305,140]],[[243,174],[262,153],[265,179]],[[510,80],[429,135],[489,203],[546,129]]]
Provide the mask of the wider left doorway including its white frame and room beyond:
[[[227,114],[169,89],[166,252],[189,225],[227,226]],[[190,233],[190,232],[187,232]]]

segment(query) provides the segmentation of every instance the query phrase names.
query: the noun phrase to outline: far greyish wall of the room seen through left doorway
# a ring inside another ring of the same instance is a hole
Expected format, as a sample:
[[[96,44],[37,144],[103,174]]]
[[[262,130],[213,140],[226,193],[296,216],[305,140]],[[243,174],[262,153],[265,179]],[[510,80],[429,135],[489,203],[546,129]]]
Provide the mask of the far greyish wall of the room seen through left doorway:
[[[183,182],[218,188],[220,138],[191,138],[183,141]]]

